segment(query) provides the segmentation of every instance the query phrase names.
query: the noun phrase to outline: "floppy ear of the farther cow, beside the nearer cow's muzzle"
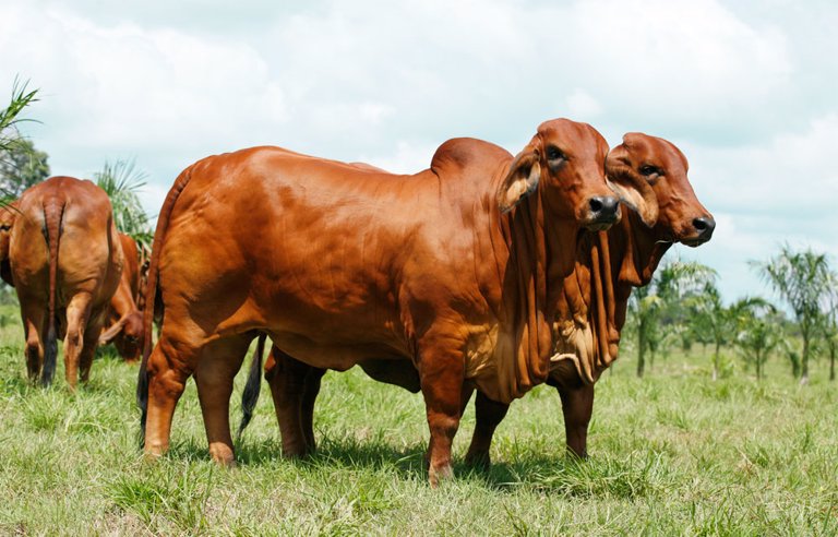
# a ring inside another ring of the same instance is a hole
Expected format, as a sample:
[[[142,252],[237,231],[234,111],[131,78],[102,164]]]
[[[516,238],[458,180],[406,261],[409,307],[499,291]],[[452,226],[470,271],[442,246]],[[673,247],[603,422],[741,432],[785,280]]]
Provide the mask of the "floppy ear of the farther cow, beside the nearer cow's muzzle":
[[[611,150],[606,158],[606,177],[620,201],[632,207],[649,227],[658,222],[658,196],[645,177],[632,167],[625,144]]]

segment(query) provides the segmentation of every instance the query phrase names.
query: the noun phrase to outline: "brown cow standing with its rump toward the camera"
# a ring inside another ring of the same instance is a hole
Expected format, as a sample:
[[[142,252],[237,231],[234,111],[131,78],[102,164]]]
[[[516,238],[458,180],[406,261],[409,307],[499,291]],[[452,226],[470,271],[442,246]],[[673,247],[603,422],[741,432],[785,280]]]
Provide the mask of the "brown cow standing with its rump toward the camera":
[[[110,200],[91,181],[52,177],[27,189],[9,244],[29,378],[52,380],[59,332],[67,382],[88,379],[108,301],[122,272]],[[41,373],[41,366],[44,371]]]

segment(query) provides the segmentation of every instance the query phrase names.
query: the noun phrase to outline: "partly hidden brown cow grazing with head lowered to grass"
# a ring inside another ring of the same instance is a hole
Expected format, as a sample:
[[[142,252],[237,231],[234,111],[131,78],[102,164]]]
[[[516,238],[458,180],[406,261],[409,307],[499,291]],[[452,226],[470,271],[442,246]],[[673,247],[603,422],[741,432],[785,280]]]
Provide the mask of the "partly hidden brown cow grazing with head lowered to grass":
[[[110,299],[107,322],[109,326],[99,336],[99,345],[113,343],[119,356],[134,361],[143,349],[143,313],[137,308],[141,291],[142,266],[136,241],[120,232],[119,240],[125,264],[119,287]]]

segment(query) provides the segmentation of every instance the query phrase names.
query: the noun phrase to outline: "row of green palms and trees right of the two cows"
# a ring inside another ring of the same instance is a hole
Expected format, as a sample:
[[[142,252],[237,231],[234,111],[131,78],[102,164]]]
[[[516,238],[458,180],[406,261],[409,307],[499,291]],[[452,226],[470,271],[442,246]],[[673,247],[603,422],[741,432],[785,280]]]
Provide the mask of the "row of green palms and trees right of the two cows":
[[[791,373],[805,384],[811,360],[826,355],[834,381],[838,273],[828,256],[786,244],[771,258],[750,264],[785,309],[764,297],[743,297],[726,305],[718,273],[697,262],[669,262],[648,286],[635,289],[628,302],[627,330],[634,339],[637,375],[654,366],[656,356],[674,347],[689,353],[701,344],[711,348],[714,380],[722,372],[722,349],[733,348],[757,380],[765,375],[768,358],[777,355],[788,360]]]

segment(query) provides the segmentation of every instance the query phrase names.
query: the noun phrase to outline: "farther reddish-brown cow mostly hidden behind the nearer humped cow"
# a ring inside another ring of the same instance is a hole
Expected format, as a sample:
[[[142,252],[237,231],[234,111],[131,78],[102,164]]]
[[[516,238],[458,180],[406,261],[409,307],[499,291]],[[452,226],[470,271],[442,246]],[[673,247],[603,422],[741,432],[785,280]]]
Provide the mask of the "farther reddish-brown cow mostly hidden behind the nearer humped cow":
[[[648,284],[663,253],[673,242],[698,246],[710,239],[716,226],[698,202],[686,177],[684,155],[666,140],[639,133],[623,138],[609,153],[607,172],[614,188],[634,210],[625,211],[609,231],[585,234],[576,267],[564,282],[554,323],[555,355],[548,384],[562,398],[568,450],[586,455],[588,422],[594,405],[594,383],[616,359],[620,331],[625,322],[633,287]],[[636,188],[625,190],[623,184]],[[263,342],[260,342],[262,344]],[[244,429],[259,396],[259,348],[242,396]],[[372,378],[417,392],[416,374],[394,362],[374,368],[361,363]],[[313,409],[325,370],[295,360],[276,346],[265,361],[283,443],[314,446]],[[466,455],[470,464],[488,466],[494,429],[508,404],[478,391],[477,423]]]

